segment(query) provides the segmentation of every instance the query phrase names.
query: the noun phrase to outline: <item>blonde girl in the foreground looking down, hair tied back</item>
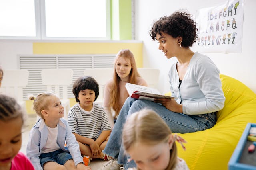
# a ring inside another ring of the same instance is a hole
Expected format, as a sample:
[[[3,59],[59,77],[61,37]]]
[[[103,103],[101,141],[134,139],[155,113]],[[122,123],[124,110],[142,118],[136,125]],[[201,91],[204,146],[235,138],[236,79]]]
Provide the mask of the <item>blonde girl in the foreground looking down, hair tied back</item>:
[[[177,157],[176,140],[186,142],[172,134],[158,114],[147,109],[130,115],[122,134],[124,150],[137,170],[188,170],[186,162]]]

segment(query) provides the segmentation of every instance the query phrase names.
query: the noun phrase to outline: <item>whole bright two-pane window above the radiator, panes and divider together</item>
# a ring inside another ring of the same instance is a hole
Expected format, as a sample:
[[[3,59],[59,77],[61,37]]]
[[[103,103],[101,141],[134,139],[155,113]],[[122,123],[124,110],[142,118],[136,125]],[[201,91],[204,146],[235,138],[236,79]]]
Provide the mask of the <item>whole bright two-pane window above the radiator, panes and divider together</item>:
[[[0,39],[110,39],[110,0],[0,0]]]

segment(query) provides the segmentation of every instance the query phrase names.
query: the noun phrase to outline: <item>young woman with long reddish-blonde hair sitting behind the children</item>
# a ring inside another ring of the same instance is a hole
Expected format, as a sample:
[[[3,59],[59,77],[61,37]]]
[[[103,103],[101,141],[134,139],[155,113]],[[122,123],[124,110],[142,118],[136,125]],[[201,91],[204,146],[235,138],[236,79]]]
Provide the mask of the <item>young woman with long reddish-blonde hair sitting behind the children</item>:
[[[113,78],[106,83],[104,88],[103,106],[106,113],[113,115],[116,119],[126,98],[129,97],[125,88],[126,82],[142,86],[148,86],[148,84],[140,77],[134,55],[129,49],[122,49],[117,53],[114,65]],[[113,114],[111,109],[114,111]],[[114,125],[113,119],[110,123]]]

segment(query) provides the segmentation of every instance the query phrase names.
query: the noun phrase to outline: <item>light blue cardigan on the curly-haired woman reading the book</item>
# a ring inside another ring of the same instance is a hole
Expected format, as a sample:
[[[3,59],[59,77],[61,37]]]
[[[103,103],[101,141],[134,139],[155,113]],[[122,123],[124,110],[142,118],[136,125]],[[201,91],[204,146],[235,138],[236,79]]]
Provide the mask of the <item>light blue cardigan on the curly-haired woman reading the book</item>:
[[[225,97],[221,88],[220,71],[206,55],[194,53],[179,87],[176,63],[169,71],[170,91],[182,102],[183,113],[199,115],[219,111],[224,107]]]

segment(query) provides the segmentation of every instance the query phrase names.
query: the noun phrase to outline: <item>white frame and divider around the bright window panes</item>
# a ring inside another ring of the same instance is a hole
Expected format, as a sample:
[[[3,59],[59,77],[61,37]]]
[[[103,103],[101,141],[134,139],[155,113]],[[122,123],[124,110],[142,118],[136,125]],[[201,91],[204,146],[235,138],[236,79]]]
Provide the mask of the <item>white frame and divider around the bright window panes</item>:
[[[47,37],[46,36],[46,17],[45,17],[45,0],[34,0],[35,4],[35,24],[36,36],[0,36],[0,40],[110,40],[111,39],[111,15],[110,0],[106,1],[106,37]]]

